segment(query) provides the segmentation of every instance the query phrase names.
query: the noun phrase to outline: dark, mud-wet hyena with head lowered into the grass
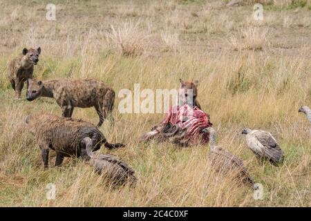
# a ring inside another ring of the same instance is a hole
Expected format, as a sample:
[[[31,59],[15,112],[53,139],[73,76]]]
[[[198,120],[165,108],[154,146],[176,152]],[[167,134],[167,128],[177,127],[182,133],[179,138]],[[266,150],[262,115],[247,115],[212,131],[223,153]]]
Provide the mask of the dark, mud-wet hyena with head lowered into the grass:
[[[102,144],[106,148],[119,148],[124,144],[110,144],[102,132],[93,124],[81,119],[58,117],[46,113],[35,113],[26,117],[27,127],[41,148],[44,167],[48,167],[49,150],[56,152],[55,166],[62,164],[64,157],[81,157],[90,160],[84,140],[88,138],[90,151],[97,151]]]

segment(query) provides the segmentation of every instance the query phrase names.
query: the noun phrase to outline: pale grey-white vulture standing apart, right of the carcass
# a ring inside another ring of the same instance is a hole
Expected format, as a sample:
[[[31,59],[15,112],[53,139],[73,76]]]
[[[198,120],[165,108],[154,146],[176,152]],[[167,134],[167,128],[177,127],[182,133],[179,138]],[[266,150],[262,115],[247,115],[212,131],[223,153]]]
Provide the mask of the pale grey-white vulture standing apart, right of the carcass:
[[[246,135],[247,146],[258,156],[281,162],[283,151],[271,133],[245,128],[242,131]]]

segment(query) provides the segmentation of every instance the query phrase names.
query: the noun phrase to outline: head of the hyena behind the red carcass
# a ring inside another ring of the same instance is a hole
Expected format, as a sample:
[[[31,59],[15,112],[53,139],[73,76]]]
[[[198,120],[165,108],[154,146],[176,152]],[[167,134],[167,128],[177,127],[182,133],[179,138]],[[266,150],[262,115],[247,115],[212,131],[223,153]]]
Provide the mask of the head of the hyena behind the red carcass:
[[[178,105],[182,106],[188,104],[189,106],[194,106],[194,102],[198,95],[198,80],[192,82],[179,79],[179,81]]]

